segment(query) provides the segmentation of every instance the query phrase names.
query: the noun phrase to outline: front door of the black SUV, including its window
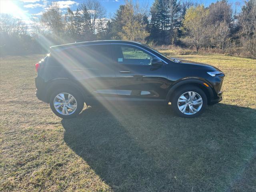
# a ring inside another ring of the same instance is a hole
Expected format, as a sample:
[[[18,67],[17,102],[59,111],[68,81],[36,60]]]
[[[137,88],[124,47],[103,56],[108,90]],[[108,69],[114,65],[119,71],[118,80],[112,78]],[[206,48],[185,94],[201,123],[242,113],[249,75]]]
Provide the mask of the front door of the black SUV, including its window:
[[[166,66],[152,67],[151,60],[155,56],[137,46],[112,46],[118,101],[165,100],[168,88]]]

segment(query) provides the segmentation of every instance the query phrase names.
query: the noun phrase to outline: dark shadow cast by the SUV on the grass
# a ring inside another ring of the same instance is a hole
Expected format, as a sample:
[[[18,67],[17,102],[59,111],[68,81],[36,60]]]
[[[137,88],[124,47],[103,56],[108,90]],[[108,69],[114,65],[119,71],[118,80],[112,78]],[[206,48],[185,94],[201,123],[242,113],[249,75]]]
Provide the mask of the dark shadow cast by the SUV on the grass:
[[[114,191],[232,191],[255,158],[255,118],[226,104],[193,119],[169,107],[108,106],[62,125],[64,141]]]

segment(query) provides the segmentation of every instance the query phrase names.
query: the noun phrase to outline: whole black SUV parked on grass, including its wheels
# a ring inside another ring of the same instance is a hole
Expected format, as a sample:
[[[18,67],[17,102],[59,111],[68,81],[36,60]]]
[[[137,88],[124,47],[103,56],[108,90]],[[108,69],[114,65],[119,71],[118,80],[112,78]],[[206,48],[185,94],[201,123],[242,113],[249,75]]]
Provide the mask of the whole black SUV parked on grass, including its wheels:
[[[222,100],[224,74],[217,68],[168,58],[137,42],[106,40],[50,47],[36,64],[36,96],[61,118],[84,102],[164,104],[182,117],[196,117]]]

